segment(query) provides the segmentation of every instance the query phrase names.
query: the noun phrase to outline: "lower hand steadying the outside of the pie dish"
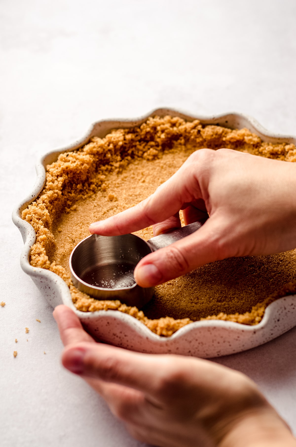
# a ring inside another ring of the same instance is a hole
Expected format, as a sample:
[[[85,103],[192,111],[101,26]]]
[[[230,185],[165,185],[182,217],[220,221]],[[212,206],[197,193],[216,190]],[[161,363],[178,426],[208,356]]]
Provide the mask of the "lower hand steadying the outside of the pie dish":
[[[245,375],[207,360],[96,343],[66,306],[54,317],[62,363],[80,375],[133,437],[161,447],[295,447],[288,427]]]

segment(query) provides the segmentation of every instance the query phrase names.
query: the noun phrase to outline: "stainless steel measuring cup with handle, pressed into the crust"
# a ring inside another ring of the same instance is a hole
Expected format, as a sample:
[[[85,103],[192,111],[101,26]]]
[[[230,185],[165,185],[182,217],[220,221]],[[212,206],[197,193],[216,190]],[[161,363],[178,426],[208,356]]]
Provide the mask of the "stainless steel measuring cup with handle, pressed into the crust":
[[[152,298],[154,287],[135,283],[134,269],[140,259],[195,232],[200,222],[152,237],[147,242],[134,234],[99,236],[92,234],[73,249],[69,264],[77,289],[96,299],[119,299],[141,308]]]

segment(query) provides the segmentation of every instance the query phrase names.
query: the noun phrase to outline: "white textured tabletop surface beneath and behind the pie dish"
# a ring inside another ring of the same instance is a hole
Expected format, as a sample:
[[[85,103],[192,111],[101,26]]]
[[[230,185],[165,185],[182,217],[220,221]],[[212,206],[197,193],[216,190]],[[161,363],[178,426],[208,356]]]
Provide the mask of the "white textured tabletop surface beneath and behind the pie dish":
[[[295,135],[295,17],[293,0],[1,1],[1,446],[140,445],[59,366],[51,308],[20,269],[10,215],[34,184],[35,162],[95,120],[162,105],[235,110]],[[294,432],[295,350],[292,329],[219,360],[252,377]]]

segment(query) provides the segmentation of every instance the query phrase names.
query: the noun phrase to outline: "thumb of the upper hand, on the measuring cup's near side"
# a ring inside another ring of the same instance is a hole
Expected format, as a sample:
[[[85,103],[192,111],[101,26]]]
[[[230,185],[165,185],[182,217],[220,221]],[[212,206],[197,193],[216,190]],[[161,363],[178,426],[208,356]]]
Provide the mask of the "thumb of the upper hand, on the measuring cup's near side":
[[[229,236],[227,219],[213,215],[196,232],[141,259],[135,267],[135,281],[141,287],[153,287],[209,262],[231,257],[234,254]]]

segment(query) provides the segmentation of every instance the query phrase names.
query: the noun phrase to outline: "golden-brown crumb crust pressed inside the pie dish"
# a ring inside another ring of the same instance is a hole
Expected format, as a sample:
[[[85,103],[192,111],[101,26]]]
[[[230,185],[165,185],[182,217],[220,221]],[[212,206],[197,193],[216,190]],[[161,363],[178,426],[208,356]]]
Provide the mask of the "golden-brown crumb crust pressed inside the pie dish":
[[[117,129],[102,139],[93,137],[47,166],[42,192],[22,212],[36,232],[30,264],[63,278],[78,310],[125,312],[159,335],[170,336],[196,320],[258,324],[268,304],[296,292],[296,250],[207,264],[157,286],[141,311],[118,300],[93,299],[72,284],[69,256],[89,235],[89,224],[148,197],[199,148],[230,148],[296,161],[294,144],[265,143],[248,129],[205,126],[170,116],[148,118],[140,127]],[[148,240],[152,228],[135,234]]]

